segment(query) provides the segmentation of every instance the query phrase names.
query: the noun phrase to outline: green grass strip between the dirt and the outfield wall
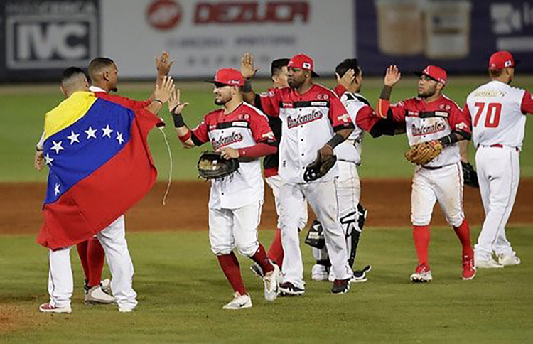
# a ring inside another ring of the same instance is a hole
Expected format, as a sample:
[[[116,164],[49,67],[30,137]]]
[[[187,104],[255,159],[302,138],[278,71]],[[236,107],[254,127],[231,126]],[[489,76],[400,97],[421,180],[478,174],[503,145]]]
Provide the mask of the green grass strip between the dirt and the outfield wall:
[[[333,80],[321,80],[324,85],[333,86]],[[483,77],[457,77],[451,80],[447,87],[446,95],[462,107],[466,96],[476,85],[486,82]],[[517,77],[515,85],[533,90],[533,77]],[[200,119],[212,109],[212,92],[209,84],[198,82],[185,82],[179,85],[182,89],[182,100],[190,102],[190,107],[185,110],[185,121],[194,127]],[[255,89],[265,90],[265,82],[258,82]],[[135,99],[143,100],[149,96],[151,85],[124,84],[121,93]],[[362,94],[372,104],[375,103],[382,83],[372,78],[365,79]],[[405,78],[395,87],[392,98],[401,100],[412,97],[416,92],[416,79]],[[46,173],[37,173],[33,170],[33,154],[36,141],[41,137],[43,128],[43,115],[55,107],[62,100],[57,86],[49,87],[1,87],[0,88],[0,181],[45,181]],[[182,149],[168,111],[164,109],[161,116],[166,119],[168,126],[165,132],[171,144],[173,163],[173,178],[190,180],[197,177],[196,161],[200,151],[208,149],[205,145],[196,149]],[[524,150],[521,154],[522,176],[533,176],[533,154],[529,154],[529,146],[533,145],[533,124],[527,122]],[[159,178],[168,176],[168,154],[164,146],[163,137],[157,130],[150,135],[151,151],[154,161],[160,172]],[[404,135],[397,137],[382,137],[372,139],[370,135],[365,139],[363,149],[363,163],[360,167],[362,178],[409,178],[412,167],[405,161],[403,154],[407,149],[407,138]],[[473,158],[472,158],[473,160]]]

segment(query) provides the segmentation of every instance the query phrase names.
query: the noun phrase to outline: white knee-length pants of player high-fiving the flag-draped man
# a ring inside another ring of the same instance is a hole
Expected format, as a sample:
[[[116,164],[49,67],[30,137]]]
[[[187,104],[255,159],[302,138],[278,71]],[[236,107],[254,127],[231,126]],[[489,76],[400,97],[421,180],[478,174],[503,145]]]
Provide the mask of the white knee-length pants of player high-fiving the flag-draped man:
[[[252,257],[259,248],[257,227],[261,222],[263,201],[237,209],[209,209],[211,251],[230,254],[237,247],[240,254]]]

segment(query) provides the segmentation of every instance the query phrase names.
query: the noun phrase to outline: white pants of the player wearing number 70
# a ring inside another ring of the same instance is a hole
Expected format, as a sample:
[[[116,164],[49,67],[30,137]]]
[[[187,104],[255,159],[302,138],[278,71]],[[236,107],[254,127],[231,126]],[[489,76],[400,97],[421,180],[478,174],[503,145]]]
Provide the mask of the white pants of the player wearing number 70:
[[[512,254],[505,225],[515,204],[520,179],[519,152],[513,147],[480,146],[475,154],[485,221],[475,244],[476,259],[489,259],[492,252]]]

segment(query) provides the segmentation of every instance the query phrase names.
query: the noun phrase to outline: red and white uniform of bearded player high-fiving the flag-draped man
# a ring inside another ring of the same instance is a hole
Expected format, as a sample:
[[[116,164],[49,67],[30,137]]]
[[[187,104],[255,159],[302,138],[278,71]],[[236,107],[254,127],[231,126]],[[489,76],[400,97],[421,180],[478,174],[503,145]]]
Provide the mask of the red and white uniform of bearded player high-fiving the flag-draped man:
[[[249,104],[230,114],[217,109],[207,114],[192,130],[193,141],[210,142],[213,149],[255,146],[274,140],[266,116]],[[230,177],[212,181],[209,198],[209,237],[212,252],[230,254],[237,247],[251,257],[259,248],[257,227],[264,199],[261,162],[240,162]]]

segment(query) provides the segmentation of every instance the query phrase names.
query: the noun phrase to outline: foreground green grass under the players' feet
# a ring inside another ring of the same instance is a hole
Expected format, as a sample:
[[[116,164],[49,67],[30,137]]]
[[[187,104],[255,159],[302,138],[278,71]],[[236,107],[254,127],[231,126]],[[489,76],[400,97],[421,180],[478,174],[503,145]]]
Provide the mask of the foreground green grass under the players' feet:
[[[262,231],[260,239],[270,242],[273,233]],[[262,281],[248,269],[251,261],[239,257],[254,306],[222,311],[231,289],[210,252],[207,232],[134,232],[128,240],[137,310],[122,314],[114,306],[83,305],[83,274],[72,252],[70,315],[37,311],[48,296],[48,257],[35,237],[1,237],[0,342],[526,343],[533,335],[533,252],[527,249],[533,232],[510,227],[507,233],[523,263],[480,270],[473,281],[462,281],[457,238],[448,228],[435,228],[434,281],[411,284],[416,265],[411,231],[369,228],[357,256],[358,267],[373,266],[369,281],[352,284],[341,296],[329,293],[329,283],[311,281],[311,252],[302,244],[306,294],[274,303],[264,301]]]

